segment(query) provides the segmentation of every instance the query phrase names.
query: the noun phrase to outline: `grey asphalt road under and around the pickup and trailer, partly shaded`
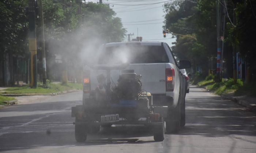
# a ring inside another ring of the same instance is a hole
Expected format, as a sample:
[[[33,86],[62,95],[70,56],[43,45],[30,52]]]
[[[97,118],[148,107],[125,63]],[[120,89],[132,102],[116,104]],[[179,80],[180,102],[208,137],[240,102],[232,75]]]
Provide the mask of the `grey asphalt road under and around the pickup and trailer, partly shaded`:
[[[77,143],[71,107],[82,92],[35,100],[0,109],[1,152],[86,153],[256,153],[256,114],[191,86],[186,97],[186,125],[154,142],[143,126],[101,128]]]

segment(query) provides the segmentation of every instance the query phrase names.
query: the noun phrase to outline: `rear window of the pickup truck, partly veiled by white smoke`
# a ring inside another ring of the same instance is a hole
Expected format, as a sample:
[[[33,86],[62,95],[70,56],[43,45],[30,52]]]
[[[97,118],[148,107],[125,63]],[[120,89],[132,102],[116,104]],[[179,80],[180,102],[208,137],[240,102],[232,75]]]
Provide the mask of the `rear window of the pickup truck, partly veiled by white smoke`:
[[[99,56],[98,64],[169,63],[162,46],[112,46]]]

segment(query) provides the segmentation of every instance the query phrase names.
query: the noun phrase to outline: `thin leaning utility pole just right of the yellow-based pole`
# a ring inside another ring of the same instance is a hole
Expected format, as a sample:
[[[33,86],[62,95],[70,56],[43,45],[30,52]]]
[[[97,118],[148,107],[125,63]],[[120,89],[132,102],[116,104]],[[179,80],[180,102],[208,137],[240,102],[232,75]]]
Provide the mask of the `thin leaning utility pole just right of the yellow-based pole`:
[[[38,0],[39,4],[39,23],[40,23],[40,40],[41,40],[41,52],[42,52],[42,78],[43,84],[46,85],[46,60],[45,60],[45,32],[44,32],[44,13],[42,0]]]

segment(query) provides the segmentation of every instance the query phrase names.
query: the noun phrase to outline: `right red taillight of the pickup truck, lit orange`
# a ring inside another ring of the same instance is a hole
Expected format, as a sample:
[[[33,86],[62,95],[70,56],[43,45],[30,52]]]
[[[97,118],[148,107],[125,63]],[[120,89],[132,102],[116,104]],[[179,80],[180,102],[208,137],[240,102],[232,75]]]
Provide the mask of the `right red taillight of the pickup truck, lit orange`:
[[[166,76],[166,91],[174,90],[174,81],[175,81],[175,71],[173,68],[166,68],[165,70]]]

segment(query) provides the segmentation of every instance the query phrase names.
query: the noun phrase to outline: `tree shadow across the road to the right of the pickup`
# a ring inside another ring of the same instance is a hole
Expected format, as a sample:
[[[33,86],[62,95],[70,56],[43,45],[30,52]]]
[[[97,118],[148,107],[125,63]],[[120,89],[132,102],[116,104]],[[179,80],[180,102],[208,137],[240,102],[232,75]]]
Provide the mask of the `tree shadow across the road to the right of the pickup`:
[[[186,126],[178,133],[222,137],[231,134],[256,136],[255,114],[230,100],[199,93],[192,87],[186,97]],[[200,91],[202,92],[202,91]]]

